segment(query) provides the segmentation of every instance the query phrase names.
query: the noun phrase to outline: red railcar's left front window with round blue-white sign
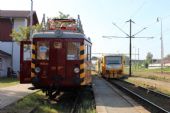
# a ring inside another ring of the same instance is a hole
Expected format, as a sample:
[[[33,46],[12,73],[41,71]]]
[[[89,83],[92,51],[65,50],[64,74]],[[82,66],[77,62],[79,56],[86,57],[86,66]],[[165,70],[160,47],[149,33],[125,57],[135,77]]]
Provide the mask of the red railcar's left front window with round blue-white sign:
[[[37,42],[37,59],[49,60],[49,42]]]

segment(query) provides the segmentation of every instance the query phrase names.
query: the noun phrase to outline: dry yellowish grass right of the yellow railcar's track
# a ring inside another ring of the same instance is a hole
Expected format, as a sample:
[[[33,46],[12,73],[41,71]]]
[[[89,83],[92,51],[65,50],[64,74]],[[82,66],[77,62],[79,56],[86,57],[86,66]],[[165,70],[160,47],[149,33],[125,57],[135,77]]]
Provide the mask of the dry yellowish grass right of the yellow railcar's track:
[[[125,69],[125,74],[128,74],[128,68]],[[157,81],[155,81],[155,83],[147,83],[146,81],[140,81],[138,79],[135,79],[135,77],[147,78]],[[164,68],[163,73],[161,73],[161,69],[135,69],[134,67],[132,67],[132,77],[129,77],[126,81],[134,83],[137,86],[142,86],[170,95],[170,89],[168,89],[167,86],[158,85],[159,81],[163,81],[165,82],[165,84],[166,82],[170,82],[170,68]]]

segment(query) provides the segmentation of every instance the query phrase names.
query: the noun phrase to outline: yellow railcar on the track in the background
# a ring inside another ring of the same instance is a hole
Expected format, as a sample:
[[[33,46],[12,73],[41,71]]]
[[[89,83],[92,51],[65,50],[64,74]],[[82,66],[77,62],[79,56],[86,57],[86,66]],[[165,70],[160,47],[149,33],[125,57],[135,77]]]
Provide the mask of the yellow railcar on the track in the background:
[[[123,55],[103,55],[100,64],[100,73],[105,78],[123,77],[125,60]]]

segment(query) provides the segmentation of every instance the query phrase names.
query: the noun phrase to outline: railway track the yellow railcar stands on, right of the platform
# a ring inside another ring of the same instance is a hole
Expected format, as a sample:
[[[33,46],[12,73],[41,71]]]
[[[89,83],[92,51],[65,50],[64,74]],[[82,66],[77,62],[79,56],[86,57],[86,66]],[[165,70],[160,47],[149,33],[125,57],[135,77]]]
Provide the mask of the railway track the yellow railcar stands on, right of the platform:
[[[170,97],[134,84],[109,80],[111,84],[130,95],[152,113],[170,113]]]

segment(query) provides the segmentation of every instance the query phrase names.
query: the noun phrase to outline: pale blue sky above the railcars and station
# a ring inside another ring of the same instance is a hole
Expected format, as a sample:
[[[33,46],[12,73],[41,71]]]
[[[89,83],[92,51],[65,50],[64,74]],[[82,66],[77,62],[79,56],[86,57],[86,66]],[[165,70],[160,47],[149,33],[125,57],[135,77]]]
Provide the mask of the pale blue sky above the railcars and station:
[[[80,15],[83,29],[93,43],[92,53],[129,54],[129,38],[103,38],[102,36],[126,35],[113,23],[129,34],[128,20],[132,19],[132,35],[147,27],[132,39],[132,58],[139,50],[139,59],[148,52],[161,58],[161,20],[164,56],[170,54],[170,0],[33,0],[33,9],[39,22],[43,14],[55,17],[59,11],[77,18]],[[0,10],[30,10],[31,0],[0,0]],[[159,22],[157,22],[159,18]],[[93,54],[96,55],[96,54]]]

